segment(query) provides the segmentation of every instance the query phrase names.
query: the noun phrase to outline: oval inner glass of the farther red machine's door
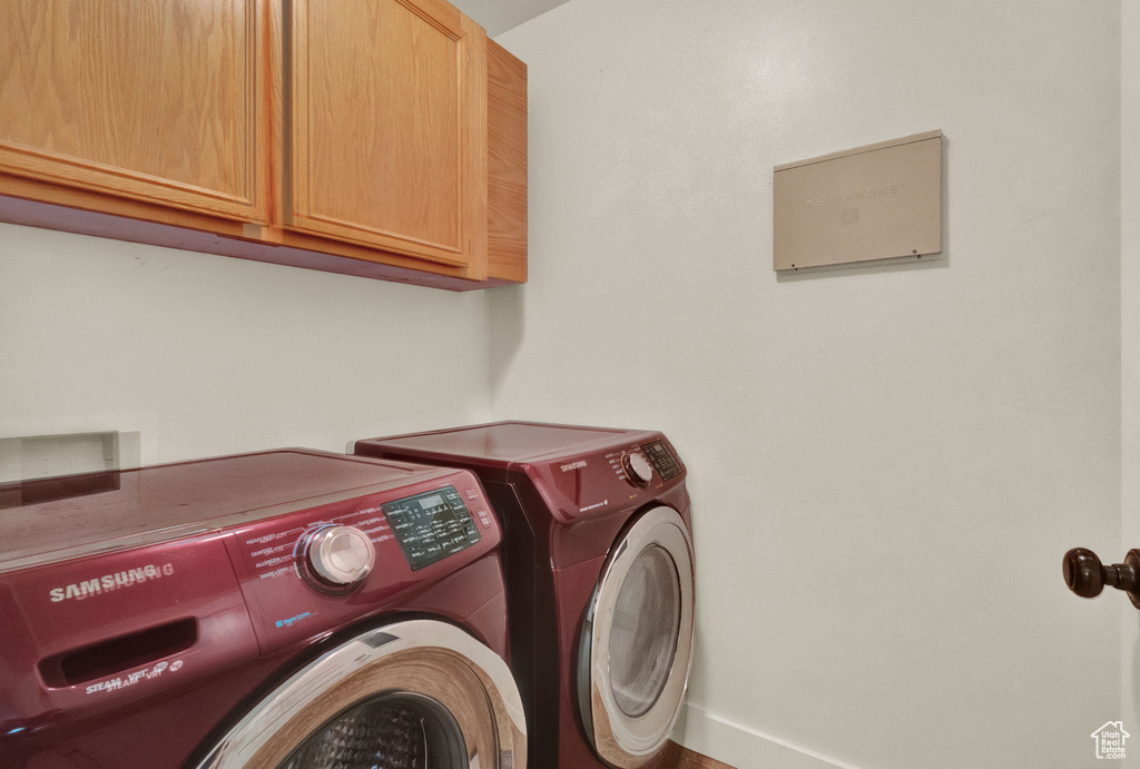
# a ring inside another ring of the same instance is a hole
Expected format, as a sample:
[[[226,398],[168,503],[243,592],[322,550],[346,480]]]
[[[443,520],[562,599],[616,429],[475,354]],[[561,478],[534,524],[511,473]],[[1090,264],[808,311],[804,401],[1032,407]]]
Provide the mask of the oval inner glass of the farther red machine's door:
[[[626,574],[610,625],[610,687],[621,712],[644,715],[669,680],[681,631],[681,576],[650,545]]]

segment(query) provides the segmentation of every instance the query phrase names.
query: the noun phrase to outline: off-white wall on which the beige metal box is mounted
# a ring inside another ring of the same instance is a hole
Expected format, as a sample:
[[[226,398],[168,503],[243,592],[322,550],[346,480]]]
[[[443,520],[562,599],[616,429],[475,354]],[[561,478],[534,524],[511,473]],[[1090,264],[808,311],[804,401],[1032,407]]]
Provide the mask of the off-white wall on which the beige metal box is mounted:
[[[1122,553],[1118,25],[1115,2],[571,0],[499,38],[530,73],[531,281],[490,296],[492,415],[683,452],[684,742],[740,767],[1094,760],[1123,597],[1069,595],[1060,557]],[[772,272],[773,165],[931,129],[940,259]]]

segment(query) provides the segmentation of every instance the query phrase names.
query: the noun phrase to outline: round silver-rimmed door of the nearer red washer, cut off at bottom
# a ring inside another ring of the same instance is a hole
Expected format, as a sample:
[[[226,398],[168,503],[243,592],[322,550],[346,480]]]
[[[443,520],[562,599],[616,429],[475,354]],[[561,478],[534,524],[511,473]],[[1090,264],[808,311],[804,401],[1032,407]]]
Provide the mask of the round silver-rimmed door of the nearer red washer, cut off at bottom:
[[[506,663],[453,625],[398,622],[269,693],[199,769],[516,769],[522,701]]]

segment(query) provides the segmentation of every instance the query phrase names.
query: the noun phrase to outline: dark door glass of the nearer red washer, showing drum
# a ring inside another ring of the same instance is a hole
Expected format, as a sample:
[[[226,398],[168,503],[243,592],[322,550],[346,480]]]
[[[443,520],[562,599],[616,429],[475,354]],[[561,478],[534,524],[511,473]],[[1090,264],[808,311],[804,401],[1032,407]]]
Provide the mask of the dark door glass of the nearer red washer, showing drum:
[[[455,717],[410,693],[367,700],[301,743],[278,769],[466,769]]]

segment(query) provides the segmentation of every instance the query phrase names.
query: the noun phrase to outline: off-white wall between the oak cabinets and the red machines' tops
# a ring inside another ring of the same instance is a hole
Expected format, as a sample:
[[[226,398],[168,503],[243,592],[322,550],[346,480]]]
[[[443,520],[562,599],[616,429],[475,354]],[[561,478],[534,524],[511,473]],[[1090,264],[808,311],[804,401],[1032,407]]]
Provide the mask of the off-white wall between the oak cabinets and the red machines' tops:
[[[486,298],[0,224],[0,437],[145,464],[488,414]]]

